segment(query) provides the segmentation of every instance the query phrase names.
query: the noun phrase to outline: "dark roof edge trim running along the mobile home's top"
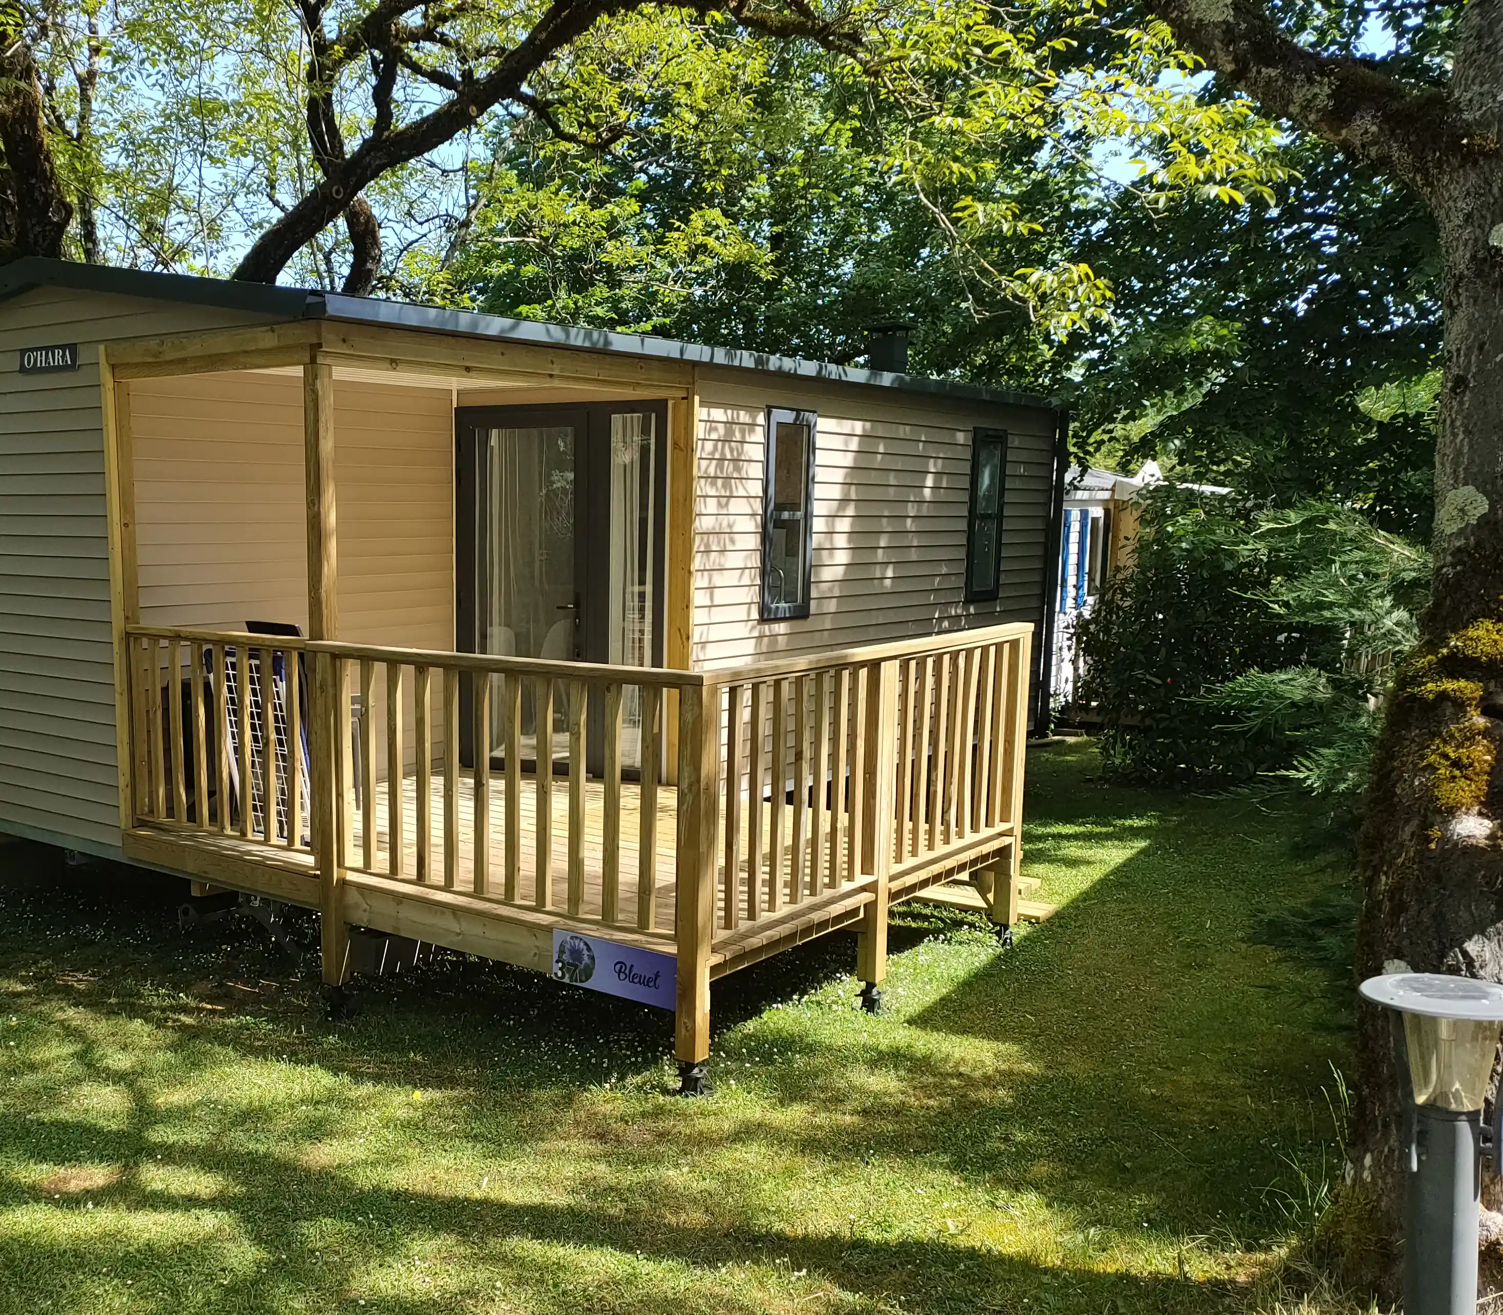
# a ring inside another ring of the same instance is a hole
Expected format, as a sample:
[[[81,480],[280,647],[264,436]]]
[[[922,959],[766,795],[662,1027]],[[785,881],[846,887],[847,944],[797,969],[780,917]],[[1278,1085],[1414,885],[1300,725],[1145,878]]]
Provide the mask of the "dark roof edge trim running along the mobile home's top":
[[[646,334],[615,334],[607,329],[576,329],[538,320],[514,320],[475,311],[454,311],[379,298],[344,296],[305,289],[274,287],[262,283],[236,283],[222,278],[197,278],[186,274],[153,274],[140,269],[114,269],[102,265],[77,265],[27,255],[0,266],[0,302],[33,287],[71,287],[81,292],[104,292],[119,296],[155,298],[158,301],[213,305],[287,319],[331,319],[364,325],[389,325],[433,334],[464,334],[473,338],[504,338],[511,343],[532,343],[543,347],[571,347],[610,352],[627,356],[648,356],[660,361],[682,361],[693,365],[723,365],[732,370],[761,370],[792,374],[825,383],[864,383],[918,392],[932,397],[953,397],[963,401],[987,401],[999,406],[1028,406],[1057,410],[1049,397],[1009,389],[960,383],[950,379],[927,379],[918,374],[890,374],[882,370],[857,370],[777,356],[770,352],[739,352],[729,347],[703,347],[654,338]]]

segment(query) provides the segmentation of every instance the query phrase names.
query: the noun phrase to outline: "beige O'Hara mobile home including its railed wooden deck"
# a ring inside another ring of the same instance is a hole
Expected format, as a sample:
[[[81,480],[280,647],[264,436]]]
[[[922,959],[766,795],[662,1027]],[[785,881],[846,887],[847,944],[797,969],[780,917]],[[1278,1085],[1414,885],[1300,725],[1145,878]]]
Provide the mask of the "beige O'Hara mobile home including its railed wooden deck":
[[[0,831],[319,909],[331,987],[350,927],[637,956],[688,1070],[714,977],[857,926],[875,992],[890,903],[957,876],[1016,917],[1058,436],[905,374],[17,261]]]

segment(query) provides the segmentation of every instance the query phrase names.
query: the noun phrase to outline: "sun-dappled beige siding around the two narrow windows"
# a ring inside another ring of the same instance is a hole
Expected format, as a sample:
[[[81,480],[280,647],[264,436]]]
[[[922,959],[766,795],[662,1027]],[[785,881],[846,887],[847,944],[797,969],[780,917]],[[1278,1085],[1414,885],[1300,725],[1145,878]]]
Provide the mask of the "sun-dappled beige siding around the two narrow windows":
[[[1054,413],[702,370],[694,666],[1037,621]],[[810,616],[761,621],[767,407],[818,413]],[[1003,577],[963,601],[971,434],[1006,428]]]

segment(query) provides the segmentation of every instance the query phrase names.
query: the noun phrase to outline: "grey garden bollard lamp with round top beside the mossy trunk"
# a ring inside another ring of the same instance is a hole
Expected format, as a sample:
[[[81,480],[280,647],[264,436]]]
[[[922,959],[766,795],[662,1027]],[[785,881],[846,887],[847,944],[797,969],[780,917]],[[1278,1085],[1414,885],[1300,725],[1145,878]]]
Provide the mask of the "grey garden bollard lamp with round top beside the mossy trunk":
[[[1362,995],[1404,1016],[1410,1109],[1404,1315],[1474,1315],[1482,1157],[1503,1172],[1503,1100],[1482,1102],[1503,1026],[1503,986],[1440,972],[1369,977]]]

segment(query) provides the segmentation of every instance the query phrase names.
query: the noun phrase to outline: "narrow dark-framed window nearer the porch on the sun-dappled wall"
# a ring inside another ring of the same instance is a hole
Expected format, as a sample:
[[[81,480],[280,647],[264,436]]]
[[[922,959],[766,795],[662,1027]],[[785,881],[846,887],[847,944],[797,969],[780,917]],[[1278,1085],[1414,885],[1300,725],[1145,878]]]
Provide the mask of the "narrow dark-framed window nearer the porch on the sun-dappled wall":
[[[762,619],[809,616],[815,537],[815,413],[767,412],[762,503]]]

